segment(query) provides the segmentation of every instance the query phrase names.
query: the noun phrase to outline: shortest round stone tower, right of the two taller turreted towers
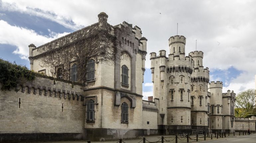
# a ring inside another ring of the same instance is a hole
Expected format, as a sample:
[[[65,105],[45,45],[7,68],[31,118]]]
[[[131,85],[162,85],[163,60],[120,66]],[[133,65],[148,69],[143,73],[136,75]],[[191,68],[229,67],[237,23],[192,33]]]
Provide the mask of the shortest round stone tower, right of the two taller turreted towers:
[[[211,93],[210,100],[210,129],[213,132],[222,131],[222,82],[210,82],[208,91]]]

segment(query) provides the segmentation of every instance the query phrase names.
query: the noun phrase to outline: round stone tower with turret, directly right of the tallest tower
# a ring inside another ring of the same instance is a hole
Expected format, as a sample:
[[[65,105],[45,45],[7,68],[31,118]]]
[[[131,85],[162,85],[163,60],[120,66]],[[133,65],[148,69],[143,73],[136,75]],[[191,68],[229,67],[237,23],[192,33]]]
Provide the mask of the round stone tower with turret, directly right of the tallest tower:
[[[203,52],[190,52],[193,72],[191,74],[191,126],[192,129],[208,129],[208,82],[209,69],[203,68]]]

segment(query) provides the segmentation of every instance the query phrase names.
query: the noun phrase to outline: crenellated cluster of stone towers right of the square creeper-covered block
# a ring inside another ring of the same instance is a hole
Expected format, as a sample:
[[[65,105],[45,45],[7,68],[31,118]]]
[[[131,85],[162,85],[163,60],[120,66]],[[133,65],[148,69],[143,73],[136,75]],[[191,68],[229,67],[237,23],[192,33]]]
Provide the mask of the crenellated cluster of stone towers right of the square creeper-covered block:
[[[203,52],[185,55],[186,38],[169,39],[170,54],[150,53],[154,101],[159,102],[158,127],[163,134],[191,132],[233,132],[237,122],[255,130],[255,119],[234,117],[234,91],[222,93],[222,82],[209,83],[209,69],[203,66]],[[236,123],[235,123],[236,122]],[[250,122],[252,125],[250,125]]]

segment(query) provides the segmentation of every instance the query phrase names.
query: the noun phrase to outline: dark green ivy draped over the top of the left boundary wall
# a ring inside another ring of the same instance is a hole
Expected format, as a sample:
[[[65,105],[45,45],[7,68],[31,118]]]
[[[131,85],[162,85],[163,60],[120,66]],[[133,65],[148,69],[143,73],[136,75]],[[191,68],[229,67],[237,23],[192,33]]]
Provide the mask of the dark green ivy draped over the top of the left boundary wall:
[[[34,80],[36,73],[24,65],[17,65],[0,58],[0,83],[2,90],[15,89],[20,82]]]

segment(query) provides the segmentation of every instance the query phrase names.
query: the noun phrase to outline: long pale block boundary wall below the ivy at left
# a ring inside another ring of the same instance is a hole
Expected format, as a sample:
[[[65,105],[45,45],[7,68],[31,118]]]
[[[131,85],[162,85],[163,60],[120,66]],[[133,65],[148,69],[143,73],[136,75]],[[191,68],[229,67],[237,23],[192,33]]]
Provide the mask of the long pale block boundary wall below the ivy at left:
[[[0,91],[0,133],[82,133],[81,86],[43,77],[21,85]]]

